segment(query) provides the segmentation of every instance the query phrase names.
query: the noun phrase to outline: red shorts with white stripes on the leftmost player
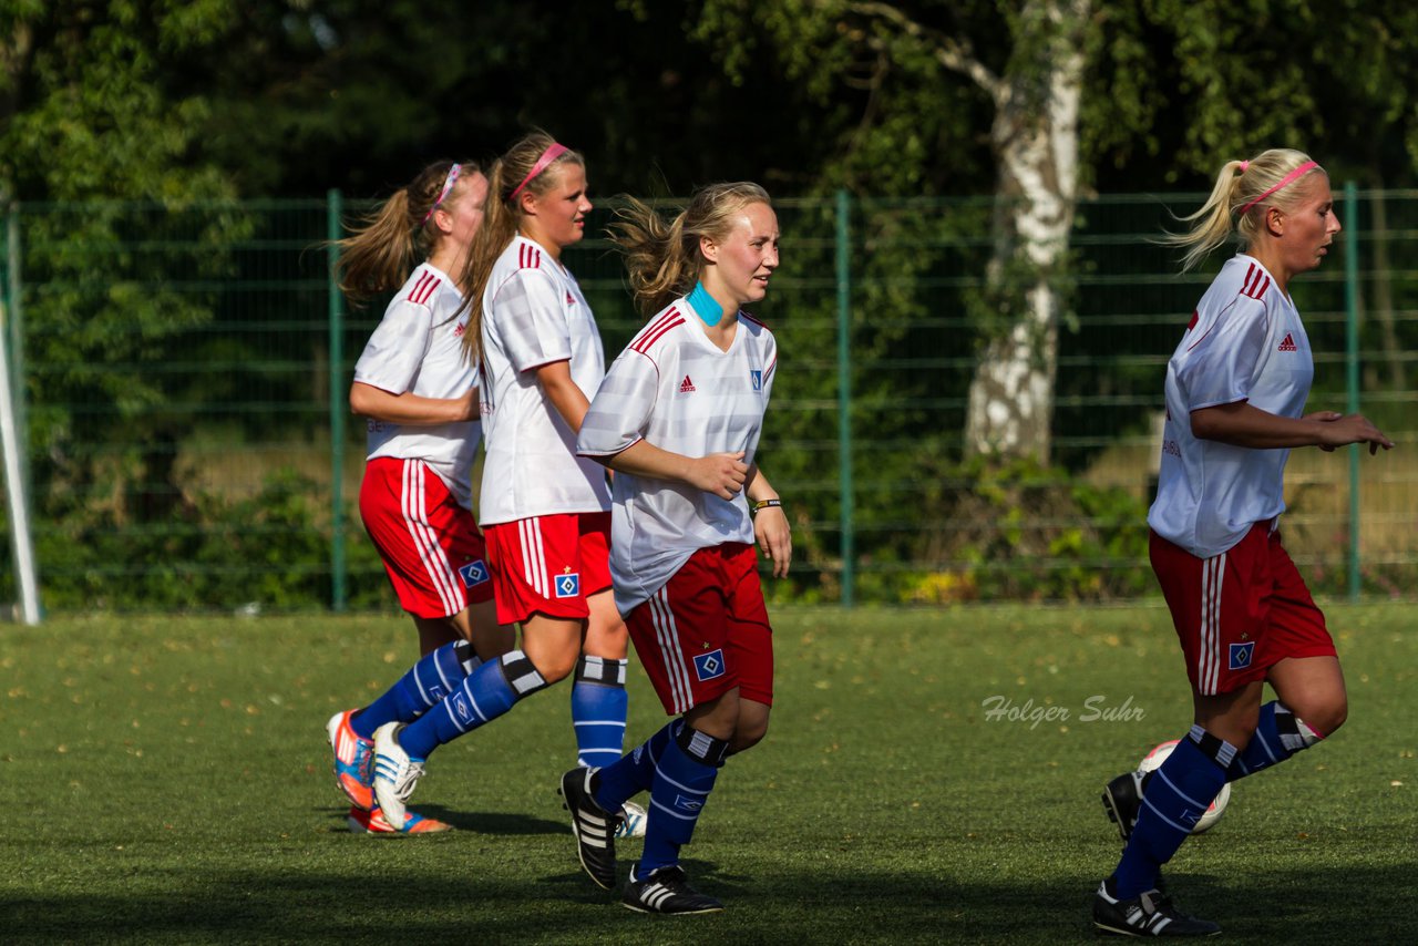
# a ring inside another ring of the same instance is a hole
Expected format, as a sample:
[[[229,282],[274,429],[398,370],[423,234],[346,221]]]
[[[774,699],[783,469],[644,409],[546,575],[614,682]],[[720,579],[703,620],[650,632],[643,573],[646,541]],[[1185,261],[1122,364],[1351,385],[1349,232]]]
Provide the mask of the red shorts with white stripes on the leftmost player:
[[[400,606],[414,617],[452,617],[492,599],[478,522],[424,461],[370,460],[359,515]]]

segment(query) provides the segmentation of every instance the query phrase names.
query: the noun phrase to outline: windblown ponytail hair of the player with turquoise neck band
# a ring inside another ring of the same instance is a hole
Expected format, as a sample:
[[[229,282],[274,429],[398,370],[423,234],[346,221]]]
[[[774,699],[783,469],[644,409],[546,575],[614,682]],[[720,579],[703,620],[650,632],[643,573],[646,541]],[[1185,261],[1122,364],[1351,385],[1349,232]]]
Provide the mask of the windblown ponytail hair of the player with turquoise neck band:
[[[740,210],[749,204],[773,206],[769,191],[752,182],[700,187],[671,221],[644,201],[623,200],[610,238],[625,258],[631,296],[645,316],[693,291],[703,269],[700,237],[720,243]]]

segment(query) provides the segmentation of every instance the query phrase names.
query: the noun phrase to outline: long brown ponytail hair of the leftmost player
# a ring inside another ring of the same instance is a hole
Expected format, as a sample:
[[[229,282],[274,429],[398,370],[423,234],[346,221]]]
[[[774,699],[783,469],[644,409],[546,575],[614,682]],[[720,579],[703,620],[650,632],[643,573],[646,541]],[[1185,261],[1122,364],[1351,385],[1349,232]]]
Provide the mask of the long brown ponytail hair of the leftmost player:
[[[432,252],[438,238],[432,213],[448,204],[451,189],[445,187],[476,173],[481,169],[472,162],[434,162],[369,214],[352,235],[333,241],[340,248],[335,277],[345,295],[362,304],[403,285],[410,271]]]

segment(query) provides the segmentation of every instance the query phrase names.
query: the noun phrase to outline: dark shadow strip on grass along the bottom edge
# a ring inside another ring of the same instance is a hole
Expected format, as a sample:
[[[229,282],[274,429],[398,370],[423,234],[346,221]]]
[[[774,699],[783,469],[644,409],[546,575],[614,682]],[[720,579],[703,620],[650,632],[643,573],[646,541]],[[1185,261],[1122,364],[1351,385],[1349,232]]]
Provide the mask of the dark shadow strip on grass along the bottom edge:
[[[440,845],[442,847],[442,845]],[[447,852],[447,850],[445,850]],[[685,862],[723,913],[647,918],[615,906],[579,871],[512,882],[421,859],[387,877],[179,872],[182,892],[146,896],[4,898],[6,942],[730,942],[1059,943],[1093,942],[1092,884],[1061,878],[1018,886],[923,872],[744,877]],[[621,875],[625,867],[623,864]],[[1222,925],[1231,942],[1418,942],[1405,911],[1412,874],[1395,869],[1265,871],[1241,878],[1170,875],[1185,909]],[[146,879],[153,879],[149,875]],[[391,906],[397,903],[397,906]]]

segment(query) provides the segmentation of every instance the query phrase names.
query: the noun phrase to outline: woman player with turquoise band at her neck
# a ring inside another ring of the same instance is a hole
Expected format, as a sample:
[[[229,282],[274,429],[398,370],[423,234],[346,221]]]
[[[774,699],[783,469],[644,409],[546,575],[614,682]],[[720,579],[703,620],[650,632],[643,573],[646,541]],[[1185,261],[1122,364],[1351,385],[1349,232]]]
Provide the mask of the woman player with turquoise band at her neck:
[[[725,759],[763,739],[773,633],[754,542],[786,576],[793,557],[777,491],[754,454],[773,390],[773,333],[740,306],[778,265],[778,223],[752,183],[699,190],[668,224],[631,201],[614,241],[642,312],[611,366],[577,450],[615,471],[615,603],[665,711],[679,716],[604,769],[562,777],[577,852],[615,884],[613,813],[649,790],[645,850],[623,903],[648,913],[723,909],[679,867]]]

